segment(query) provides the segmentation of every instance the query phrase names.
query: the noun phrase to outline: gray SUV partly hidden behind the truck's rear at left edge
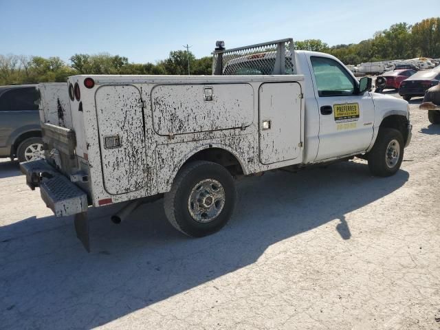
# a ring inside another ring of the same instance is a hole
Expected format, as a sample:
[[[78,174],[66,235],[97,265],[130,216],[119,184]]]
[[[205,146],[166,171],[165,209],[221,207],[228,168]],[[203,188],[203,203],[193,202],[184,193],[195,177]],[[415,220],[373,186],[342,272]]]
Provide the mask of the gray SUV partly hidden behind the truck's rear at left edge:
[[[36,85],[0,86],[0,157],[43,157]]]

